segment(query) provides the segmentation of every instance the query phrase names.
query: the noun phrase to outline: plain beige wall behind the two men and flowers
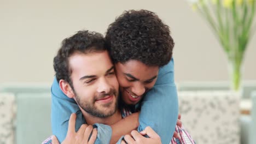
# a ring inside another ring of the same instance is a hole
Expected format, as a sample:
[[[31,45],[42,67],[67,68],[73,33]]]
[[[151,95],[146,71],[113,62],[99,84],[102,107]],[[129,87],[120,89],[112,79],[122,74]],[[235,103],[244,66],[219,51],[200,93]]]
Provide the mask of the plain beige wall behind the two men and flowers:
[[[223,50],[186,1],[0,0],[0,83],[51,82],[62,39],[83,28],[105,33],[128,9],[152,10],[171,27],[177,82],[228,80]],[[254,36],[246,52],[246,80],[256,80],[255,53]]]

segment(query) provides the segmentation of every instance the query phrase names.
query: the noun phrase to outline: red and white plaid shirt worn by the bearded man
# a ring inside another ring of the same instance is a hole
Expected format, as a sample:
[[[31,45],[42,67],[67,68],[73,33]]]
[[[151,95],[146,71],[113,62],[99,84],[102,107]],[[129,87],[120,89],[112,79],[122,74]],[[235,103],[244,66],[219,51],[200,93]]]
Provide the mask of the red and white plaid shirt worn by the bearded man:
[[[122,117],[125,118],[132,114],[130,110],[123,109],[121,111]],[[180,138],[172,137],[170,144],[195,144],[189,133],[183,128],[176,125],[175,131],[178,133]],[[42,142],[42,144],[51,144],[51,137]]]

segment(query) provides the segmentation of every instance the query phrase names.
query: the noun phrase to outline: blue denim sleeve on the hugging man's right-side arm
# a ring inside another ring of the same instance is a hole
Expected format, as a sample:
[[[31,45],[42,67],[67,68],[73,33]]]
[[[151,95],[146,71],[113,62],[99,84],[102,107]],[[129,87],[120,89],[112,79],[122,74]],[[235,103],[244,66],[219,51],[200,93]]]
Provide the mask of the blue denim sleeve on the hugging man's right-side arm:
[[[155,86],[145,95],[141,103],[138,131],[151,127],[162,143],[170,143],[177,119],[178,97],[174,83],[173,59],[160,68]]]

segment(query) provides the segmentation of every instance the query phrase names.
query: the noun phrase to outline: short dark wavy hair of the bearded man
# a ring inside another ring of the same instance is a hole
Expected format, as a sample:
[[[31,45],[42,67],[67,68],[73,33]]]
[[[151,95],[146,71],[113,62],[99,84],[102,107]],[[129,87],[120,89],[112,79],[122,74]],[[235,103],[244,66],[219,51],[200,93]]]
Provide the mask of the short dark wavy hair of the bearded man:
[[[73,36],[62,41],[61,47],[54,57],[54,70],[56,79],[59,82],[61,79],[67,81],[73,88],[70,75],[72,70],[68,65],[68,58],[73,53],[89,53],[104,51],[105,40],[102,34],[97,32],[79,31]]]

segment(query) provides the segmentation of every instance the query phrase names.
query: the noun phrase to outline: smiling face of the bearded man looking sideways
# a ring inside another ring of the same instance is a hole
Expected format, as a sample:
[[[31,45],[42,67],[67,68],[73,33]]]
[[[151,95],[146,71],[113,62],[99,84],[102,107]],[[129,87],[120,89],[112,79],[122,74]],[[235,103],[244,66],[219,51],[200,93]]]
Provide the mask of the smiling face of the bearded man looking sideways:
[[[118,81],[107,51],[69,58],[73,95],[82,112],[109,117],[117,111]]]

